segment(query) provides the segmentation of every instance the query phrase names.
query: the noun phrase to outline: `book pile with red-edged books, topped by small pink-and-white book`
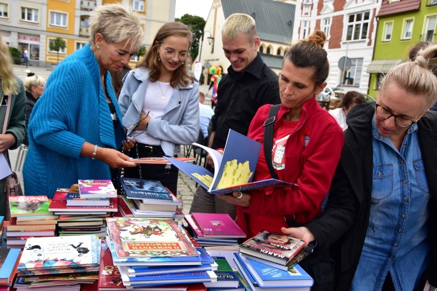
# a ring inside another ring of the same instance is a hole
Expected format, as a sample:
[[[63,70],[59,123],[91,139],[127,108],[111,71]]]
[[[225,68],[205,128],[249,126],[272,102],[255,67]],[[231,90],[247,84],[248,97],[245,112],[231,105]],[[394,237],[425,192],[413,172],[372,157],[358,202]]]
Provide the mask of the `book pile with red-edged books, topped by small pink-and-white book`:
[[[58,215],[59,236],[106,235],[106,217],[117,211],[111,180],[78,180],[70,189],[57,189],[49,210]]]

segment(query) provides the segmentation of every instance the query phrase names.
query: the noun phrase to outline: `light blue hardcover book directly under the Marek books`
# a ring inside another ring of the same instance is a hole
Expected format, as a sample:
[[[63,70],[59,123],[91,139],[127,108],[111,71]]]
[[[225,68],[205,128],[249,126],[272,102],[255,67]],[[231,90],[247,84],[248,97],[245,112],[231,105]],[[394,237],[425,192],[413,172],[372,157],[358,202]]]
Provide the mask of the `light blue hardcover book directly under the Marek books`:
[[[236,254],[260,287],[310,287],[314,280],[299,265],[284,271]]]

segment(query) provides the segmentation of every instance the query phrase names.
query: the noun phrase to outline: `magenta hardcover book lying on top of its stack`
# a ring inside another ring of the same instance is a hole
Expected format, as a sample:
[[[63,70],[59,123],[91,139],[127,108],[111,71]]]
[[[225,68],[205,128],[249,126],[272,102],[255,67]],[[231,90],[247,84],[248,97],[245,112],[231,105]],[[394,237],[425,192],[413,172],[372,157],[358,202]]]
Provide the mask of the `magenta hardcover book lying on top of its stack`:
[[[191,215],[206,238],[246,237],[241,228],[226,213],[192,213]]]

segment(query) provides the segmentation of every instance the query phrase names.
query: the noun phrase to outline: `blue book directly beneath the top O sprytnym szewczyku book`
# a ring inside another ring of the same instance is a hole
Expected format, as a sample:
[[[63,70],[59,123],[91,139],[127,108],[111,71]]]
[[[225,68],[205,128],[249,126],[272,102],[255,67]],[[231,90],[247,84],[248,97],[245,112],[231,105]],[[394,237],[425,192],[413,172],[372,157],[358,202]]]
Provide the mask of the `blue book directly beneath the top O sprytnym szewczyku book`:
[[[118,258],[115,252],[114,245],[109,237],[106,238],[106,243],[112,254],[114,266],[165,266],[165,265],[201,265],[201,256],[192,257],[130,257]]]

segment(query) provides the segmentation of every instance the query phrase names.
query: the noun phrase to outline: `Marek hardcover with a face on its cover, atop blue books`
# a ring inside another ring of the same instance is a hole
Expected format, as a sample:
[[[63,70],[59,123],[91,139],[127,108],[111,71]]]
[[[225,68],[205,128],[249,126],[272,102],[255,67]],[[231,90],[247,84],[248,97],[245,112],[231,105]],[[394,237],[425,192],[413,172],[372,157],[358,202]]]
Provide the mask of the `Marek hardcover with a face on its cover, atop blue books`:
[[[240,252],[285,266],[304,246],[300,239],[263,231],[240,244]]]

